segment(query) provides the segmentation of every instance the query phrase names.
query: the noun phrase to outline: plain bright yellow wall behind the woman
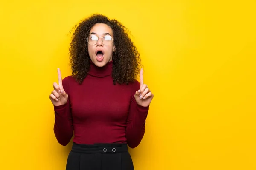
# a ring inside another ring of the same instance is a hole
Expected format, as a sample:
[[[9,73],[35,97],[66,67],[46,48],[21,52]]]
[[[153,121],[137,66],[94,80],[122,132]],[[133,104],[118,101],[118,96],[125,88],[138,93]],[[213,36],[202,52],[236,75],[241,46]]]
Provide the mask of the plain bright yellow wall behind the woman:
[[[64,170],[49,93],[70,74],[70,29],[99,12],[127,26],[154,92],[136,170],[256,169],[256,1],[4,1],[0,169]]]

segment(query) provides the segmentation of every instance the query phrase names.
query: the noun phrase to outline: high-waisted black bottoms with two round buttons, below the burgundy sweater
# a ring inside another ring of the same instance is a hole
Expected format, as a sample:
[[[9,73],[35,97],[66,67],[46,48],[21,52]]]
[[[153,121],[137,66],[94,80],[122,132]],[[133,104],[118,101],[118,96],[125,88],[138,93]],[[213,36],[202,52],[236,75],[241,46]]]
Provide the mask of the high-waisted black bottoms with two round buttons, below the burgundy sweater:
[[[127,144],[76,144],[66,170],[134,170]]]

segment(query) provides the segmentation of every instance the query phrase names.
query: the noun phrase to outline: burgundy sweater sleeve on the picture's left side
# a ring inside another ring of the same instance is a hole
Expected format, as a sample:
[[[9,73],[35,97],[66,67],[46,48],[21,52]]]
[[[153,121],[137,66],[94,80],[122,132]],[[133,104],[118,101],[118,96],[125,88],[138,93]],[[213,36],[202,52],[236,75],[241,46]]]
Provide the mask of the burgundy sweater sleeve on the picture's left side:
[[[68,77],[62,80],[62,85],[64,91],[69,94]],[[57,141],[61,145],[66,146],[73,137],[73,118],[70,109],[70,96],[66,104],[53,107],[55,115],[54,134]]]

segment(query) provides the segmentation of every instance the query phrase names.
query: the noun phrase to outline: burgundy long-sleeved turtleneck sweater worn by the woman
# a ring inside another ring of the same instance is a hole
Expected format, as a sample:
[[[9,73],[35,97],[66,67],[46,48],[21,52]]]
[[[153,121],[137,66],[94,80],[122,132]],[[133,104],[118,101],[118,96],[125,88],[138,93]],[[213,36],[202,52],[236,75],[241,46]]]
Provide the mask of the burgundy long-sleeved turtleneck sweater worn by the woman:
[[[72,76],[62,80],[67,103],[54,106],[54,133],[65,146],[73,138],[77,144],[127,143],[137,147],[145,133],[149,106],[137,104],[134,94],[137,80],[113,85],[113,60],[103,67],[90,62],[90,70],[81,84]]]

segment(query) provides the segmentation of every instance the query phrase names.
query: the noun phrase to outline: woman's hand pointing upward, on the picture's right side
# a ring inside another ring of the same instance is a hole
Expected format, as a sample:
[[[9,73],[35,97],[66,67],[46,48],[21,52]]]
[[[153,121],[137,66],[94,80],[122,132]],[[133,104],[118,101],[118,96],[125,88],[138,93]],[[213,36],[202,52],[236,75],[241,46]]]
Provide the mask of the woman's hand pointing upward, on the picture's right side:
[[[154,94],[149,90],[148,85],[143,83],[143,70],[140,70],[140,89],[134,94],[138,105],[147,107],[150,105]]]

